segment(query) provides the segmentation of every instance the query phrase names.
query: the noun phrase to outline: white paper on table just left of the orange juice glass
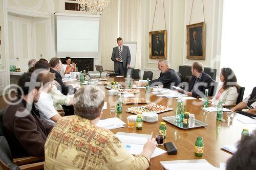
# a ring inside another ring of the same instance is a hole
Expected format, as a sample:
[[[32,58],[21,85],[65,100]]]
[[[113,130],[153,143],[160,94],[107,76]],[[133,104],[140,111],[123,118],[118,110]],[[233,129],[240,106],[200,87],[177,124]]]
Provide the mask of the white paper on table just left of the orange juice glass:
[[[100,119],[96,126],[104,129],[117,129],[123,128],[125,123],[117,117]]]

